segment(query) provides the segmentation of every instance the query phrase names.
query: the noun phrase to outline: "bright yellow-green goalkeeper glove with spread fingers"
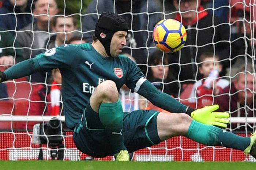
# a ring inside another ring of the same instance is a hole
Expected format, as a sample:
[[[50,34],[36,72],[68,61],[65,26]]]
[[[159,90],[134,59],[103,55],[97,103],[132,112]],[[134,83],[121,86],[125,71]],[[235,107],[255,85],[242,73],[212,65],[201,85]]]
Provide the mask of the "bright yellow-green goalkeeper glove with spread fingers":
[[[198,121],[200,123],[206,125],[215,125],[221,128],[227,128],[227,124],[229,124],[229,120],[227,118],[230,117],[227,112],[213,112],[219,109],[219,105],[212,106],[204,106],[201,109],[196,109],[191,113],[191,117],[193,120]]]

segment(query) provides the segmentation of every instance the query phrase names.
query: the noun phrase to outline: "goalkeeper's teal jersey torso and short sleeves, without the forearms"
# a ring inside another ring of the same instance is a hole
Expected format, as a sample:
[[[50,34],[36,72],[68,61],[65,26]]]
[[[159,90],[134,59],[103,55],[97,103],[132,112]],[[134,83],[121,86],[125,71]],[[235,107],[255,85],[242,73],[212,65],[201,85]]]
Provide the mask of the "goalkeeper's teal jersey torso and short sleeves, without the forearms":
[[[36,56],[41,69],[60,68],[66,124],[79,123],[91,94],[105,80],[113,80],[119,90],[125,83],[133,89],[143,77],[128,57],[102,57],[91,44],[65,45]]]

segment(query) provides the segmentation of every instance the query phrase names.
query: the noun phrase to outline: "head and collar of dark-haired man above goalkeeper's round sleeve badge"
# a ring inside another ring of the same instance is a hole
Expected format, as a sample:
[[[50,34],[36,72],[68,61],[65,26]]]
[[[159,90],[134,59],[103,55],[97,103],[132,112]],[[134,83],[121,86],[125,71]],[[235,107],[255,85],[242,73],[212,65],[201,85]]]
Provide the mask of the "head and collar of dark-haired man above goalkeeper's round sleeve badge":
[[[64,44],[69,44],[72,34],[76,30],[76,19],[74,16],[57,15],[52,20],[52,31],[55,33],[50,41],[45,42],[45,48],[51,49]]]

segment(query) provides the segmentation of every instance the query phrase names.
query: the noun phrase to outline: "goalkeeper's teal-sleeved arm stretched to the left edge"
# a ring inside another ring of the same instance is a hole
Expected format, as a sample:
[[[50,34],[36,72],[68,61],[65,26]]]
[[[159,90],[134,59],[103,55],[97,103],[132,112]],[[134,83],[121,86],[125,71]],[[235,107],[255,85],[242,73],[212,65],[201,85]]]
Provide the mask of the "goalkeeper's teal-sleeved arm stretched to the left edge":
[[[60,46],[38,54],[34,58],[22,61],[0,72],[0,82],[28,76],[38,71],[50,71],[55,68],[75,67],[79,48],[72,45]]]

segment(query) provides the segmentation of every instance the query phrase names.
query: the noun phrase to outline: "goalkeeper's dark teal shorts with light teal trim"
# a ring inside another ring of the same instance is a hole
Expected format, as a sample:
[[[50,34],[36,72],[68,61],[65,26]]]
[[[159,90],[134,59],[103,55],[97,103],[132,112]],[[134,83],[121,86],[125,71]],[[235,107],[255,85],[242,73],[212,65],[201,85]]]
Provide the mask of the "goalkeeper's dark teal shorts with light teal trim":
[[[157,133],[157,116],[155,110],[136,110],[124,113],[123,135],[128,152],[149,147],[161,142]],[[82,122],[74,129],[73,139],[76,147],[83,153],[102,158],[114,155],[105,130],[99,121],[99,114],[91,109],[90,104],[84,109]]]

